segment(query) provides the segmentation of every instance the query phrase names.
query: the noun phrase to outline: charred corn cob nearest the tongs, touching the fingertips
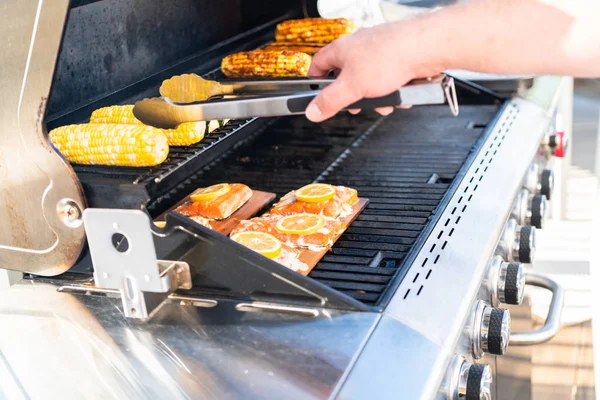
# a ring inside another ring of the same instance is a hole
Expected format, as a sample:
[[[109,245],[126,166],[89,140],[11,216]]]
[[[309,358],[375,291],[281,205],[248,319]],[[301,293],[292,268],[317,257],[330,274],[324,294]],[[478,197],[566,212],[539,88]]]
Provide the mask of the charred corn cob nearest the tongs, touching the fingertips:
[[[255,50],[225,57],[221,69],[230,78],[306,76],[310,60],[306,53]]]

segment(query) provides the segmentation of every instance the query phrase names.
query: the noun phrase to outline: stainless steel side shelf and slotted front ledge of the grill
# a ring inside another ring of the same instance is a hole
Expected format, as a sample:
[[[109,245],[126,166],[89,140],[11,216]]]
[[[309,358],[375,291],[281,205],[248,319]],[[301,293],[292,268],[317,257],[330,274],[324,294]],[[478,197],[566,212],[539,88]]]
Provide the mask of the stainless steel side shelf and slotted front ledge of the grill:
[[[557,82],[540,84],[552,92]],[[382,312],[308,307],[316,314],[308,317],[302,308],[250,313],[235,301],[205,308],[199,300],[204,307],[172,302],[137,325],[122,316],[118,299],[23,282],[1,295],[0,369],[12,377],[3,390],[78,398],[445,398],[452,357],[471,353],[464,328],[551,109],[528,100],[505,105]],[[453,214],[460,204],[468,206]],[[429,277],[413,279],[429,269]],[[74,366],[89,392],[65,393],[83,387],[59,372]]]

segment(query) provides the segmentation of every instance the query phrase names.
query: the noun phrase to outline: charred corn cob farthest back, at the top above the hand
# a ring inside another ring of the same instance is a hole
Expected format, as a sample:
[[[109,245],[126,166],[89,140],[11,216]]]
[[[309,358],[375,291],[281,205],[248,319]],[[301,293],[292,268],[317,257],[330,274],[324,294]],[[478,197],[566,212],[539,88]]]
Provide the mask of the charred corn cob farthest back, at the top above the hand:
[[[354,24],[346,18],[305,18],[284,21],[277,25],[275,40],[294,43],[331,43],[354,31]]]

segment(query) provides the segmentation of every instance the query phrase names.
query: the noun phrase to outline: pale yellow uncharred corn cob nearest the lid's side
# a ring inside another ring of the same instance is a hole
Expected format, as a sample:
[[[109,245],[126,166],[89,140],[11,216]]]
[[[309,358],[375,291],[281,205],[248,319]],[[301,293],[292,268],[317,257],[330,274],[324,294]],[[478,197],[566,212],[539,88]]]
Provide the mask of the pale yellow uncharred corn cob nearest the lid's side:
[[[146,125],[67,125],[49,136],[56,149],[76,164],[148,167],[169,154],[164,132]]]

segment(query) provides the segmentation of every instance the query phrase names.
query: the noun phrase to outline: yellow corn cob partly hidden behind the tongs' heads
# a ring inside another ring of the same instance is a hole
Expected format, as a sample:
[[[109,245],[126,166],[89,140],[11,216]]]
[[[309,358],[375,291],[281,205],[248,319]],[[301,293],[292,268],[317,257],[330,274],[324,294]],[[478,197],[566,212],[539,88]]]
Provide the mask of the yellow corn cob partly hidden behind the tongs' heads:
[[[175,129],[162,129],[167,136],[170,146],[189,146],[204,139],[204,135],[224,126],[222,121],[186,122]],[[133,106],[110,106],[99,108],[92,113],[90,124],[128,124],[142,125],[140,120],[133,115]]]

